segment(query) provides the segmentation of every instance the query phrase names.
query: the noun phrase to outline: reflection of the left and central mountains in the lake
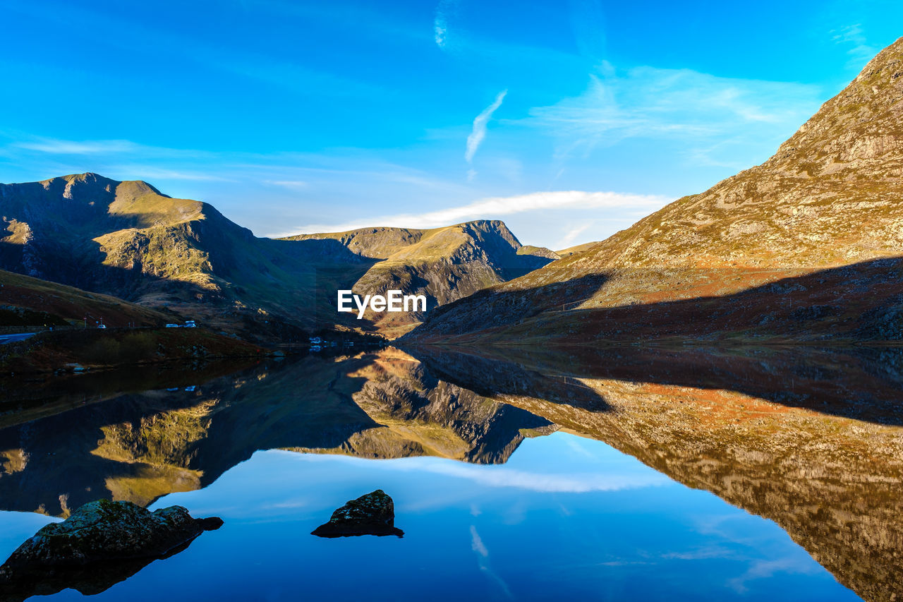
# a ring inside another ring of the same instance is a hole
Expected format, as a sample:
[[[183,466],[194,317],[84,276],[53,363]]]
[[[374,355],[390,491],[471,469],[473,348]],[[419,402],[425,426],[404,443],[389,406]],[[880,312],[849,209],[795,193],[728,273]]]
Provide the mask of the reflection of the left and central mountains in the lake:
[[[190,378],[163,373],[153,389],[124,394],[87,382],[52,403],[45,390],[37,407],[7,404],[0,507],[64,515],[98,497],[148,504],[210,484],[262,449],[498,463],[525,436],[554,430],[435,380],[395,350]]]

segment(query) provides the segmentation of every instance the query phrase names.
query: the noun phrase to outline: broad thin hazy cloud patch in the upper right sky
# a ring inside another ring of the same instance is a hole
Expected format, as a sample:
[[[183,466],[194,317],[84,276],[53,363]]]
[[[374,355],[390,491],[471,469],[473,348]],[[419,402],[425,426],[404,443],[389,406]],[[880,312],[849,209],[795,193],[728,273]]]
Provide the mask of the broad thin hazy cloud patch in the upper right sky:
[[[528,118],[507,123],[552,136],[560,163],[587,157],[596,147],[647,138],[680,143],[687,156],[717,149],[713,162],[744,167],[749,166],[749,146],[768,136],[762,146],[773,150],[821,100],[821,89],[805,84],[654,67],[618,73],[604,65],[579,96],[532,108]],[[734,144],[723,146],[726,139]],[[726,156],[745,160],[734,165],[736,160]]]

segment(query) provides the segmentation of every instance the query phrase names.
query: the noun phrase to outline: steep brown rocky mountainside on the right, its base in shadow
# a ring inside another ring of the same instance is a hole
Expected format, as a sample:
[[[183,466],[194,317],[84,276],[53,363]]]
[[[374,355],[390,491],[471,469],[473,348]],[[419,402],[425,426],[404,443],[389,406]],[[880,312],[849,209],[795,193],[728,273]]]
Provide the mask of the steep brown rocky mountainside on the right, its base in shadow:
[[[409,338],[903,339],[901,100],[903,38],[762,165],[442,307]]]

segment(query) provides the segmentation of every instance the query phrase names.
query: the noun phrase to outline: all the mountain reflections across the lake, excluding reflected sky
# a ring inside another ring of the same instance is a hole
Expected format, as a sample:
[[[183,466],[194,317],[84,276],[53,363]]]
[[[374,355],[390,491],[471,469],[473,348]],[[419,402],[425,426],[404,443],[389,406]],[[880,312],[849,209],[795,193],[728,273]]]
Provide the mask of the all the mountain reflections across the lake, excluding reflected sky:
[[[40,403],[20,385],[0,414],[0,510],[147,505],[268,449],[498,465],[563,430],[776,522],[844,586],[883,600],[903,591],[901,365],[887,348],[388,348],[160,372],[123,393],[115,373],[35,383]]]

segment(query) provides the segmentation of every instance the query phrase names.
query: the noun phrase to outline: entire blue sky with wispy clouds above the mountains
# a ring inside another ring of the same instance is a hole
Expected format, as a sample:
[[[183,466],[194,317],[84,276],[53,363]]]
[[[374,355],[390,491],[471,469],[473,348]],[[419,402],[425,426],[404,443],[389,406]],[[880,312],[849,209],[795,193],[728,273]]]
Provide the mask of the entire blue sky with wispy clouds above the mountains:
[[[97,172],[257,235],[601,240],[768,158],[903,3],[5,0],[0,182]]]

